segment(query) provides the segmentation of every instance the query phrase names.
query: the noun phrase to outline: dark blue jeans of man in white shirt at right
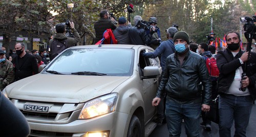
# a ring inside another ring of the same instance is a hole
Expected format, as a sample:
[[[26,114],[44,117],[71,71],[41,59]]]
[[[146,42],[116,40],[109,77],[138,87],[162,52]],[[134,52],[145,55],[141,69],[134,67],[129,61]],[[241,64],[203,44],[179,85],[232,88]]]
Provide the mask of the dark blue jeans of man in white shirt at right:
[[[219,135],[230,137],[234,120],[234,136],[246,136],[253,100],[250,96],[221,95],[219,98]]]

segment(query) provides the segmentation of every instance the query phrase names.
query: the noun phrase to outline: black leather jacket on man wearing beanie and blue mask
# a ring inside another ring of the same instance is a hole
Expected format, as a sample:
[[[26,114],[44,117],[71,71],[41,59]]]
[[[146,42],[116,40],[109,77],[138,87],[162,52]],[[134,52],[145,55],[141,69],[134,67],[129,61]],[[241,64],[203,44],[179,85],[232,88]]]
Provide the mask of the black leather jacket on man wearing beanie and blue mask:
[[[205,96],[201,100],[200,82],[205,88]],[[182,66],[177,52],[166,58],[164,74],[159,85],[157,96],[161,98],[164,90],[167,96],[179,102],[191,102],[209,105],[211,99],[211,81],[203,58],[190,50]]]

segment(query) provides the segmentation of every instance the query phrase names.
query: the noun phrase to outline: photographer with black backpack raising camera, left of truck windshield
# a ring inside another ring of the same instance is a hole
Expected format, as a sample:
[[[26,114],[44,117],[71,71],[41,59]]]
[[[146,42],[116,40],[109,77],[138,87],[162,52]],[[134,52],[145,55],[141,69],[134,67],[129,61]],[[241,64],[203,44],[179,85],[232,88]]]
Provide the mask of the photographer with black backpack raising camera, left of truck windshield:
[[[72,47],[78,41],[80,41],[80,36],[75,29],[75,24],[73,21],[70,22],[70,28],[72,29],[75,38],[69,38],[65,35],[66,33],[65,24],[59,23],[55,25],[55,30],[57,34],[53,37],[53,39],[49,41],[49,45],[51,49],[50,60],[55,58],[58,55],[58,53],[60,53],[64,49]]]

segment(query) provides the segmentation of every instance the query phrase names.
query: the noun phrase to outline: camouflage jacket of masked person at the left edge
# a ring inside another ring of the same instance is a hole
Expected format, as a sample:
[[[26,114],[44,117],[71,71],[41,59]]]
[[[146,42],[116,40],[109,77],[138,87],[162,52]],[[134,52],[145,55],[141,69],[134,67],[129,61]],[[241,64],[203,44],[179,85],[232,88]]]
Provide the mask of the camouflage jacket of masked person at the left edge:
[[[14,81],[14,69],[13,64],[9,60],[5,60],[0,63],[0,90],[13,83]]]

